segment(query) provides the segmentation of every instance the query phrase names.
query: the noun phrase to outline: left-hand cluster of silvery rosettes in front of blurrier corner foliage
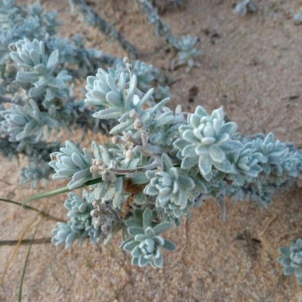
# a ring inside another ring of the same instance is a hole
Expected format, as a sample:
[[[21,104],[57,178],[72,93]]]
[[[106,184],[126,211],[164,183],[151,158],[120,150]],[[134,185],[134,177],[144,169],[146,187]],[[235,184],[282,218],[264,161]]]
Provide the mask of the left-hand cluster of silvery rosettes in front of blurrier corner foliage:
[[[103,127],[102,122],[93,121],[91,110],[85,103],[75,102],[72,86],[66,85],[71,77],[66,70],[58,68],[57,49],[49,53],[43,41],[26,38],[19,40],[14,48],[17,51],[12,51],[11,57],[20,71],[17,71],[14,82],[15,96],[2,98],[3,102],[12,105],[1,112],[1,141],[4,147],[7,141],[15,143],[16,151],[29,157],[29,167],[21,173],[22,182],[32,180],[36,185],[39,179],[48,179],[51,173],[45,165],[45,156],[39,156],[37,160],[41,143],[45,150],[49,150],[46,141],[51,130],[82,127],[87,131],[89,128],[105,129],[106,125]]]

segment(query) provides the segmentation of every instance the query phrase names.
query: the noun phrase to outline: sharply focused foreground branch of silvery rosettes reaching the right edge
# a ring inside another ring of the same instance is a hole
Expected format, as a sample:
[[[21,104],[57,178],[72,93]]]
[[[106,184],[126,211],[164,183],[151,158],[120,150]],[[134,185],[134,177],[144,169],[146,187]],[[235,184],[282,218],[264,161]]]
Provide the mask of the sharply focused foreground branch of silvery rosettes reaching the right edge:
[[[124,62],[119,74],[100,68],[87,79],[85,102],[100,106],[93,116],[117,121],[112,141],[92,142],[92,153],[85,156],[72,145],[50,162],[57,175],[71,180],[69,190],[91,186],[90,233],[68,237],[73,225],[68,222],[54,231],[55,242],[69,247],[85,234],[105,244],[121,231],[121,247],[132,254],[133,265],[162,267],[161,248],[175,245],[159,238],[160,230],[181,225],[193,207],[213,198],[225,219],[226,197],[268,207],[278,188],[302,178],[302,152],[294,145],[272,133],[239,134],[222,108],[211,114],[202,106],[193,114],[180,106],[172,111],[169,98],[156,103],[153,89],[138,88],[133,65],[128,58]]]

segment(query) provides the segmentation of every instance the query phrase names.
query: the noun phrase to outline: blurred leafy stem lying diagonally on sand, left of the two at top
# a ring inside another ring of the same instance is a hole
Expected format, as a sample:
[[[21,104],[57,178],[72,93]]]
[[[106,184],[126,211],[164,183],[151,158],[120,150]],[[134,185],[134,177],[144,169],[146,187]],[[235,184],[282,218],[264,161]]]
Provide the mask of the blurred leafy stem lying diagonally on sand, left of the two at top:
[[[84,16],[90,25],[97,27],[103,34],[116,39],[126,51],[137,57],[138,50],[136,47],[127,41],[112,24],[105,21],[85,0],[69,0],[69,3],[77,7],[79,13]]]

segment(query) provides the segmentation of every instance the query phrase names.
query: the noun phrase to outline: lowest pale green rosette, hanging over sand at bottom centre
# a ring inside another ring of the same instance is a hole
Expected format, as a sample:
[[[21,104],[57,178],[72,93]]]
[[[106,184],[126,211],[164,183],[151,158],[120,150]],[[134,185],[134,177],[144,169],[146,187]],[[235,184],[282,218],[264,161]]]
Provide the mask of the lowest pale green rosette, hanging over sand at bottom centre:
[[[125,221],[130,239],[122,243],[121,248],[132,255],[132,265],[139,267],[152,265],[161,268],[164,264],[162,248],[176,250],[176,245],[164,239],[160,234],[170,228],[173,223],[164,221],[153,223],[152,210],[146,208],[143,213],[134,212],[134,217]]]

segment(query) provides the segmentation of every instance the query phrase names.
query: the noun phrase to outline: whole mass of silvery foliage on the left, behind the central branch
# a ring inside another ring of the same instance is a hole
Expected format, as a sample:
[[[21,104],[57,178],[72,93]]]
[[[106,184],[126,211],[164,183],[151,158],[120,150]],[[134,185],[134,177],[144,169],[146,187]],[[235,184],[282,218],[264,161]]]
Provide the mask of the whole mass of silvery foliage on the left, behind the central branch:
[[[60,25],[56,12],[44,11],[38,3],[19,7],[15,1],[1,1],[0,15],[0,101],[13,104],[0,107],[0,152],[27,155],[22,183],[35,186],[51,173],[45,157],[53,152],[46,143],[51,130],[109,132],[111,122],[93,119],[91,108],[74,97],[71,74],[86,77],[115,58],[85,48],[80,35],[72,41],[54,36]]]

